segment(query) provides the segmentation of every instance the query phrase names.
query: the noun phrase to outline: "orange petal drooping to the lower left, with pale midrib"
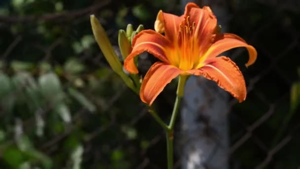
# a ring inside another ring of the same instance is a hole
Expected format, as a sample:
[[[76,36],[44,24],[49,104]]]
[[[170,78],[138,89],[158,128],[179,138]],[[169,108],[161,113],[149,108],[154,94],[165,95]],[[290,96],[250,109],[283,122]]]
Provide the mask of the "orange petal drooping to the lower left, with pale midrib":
[[[163,88],[182,72],[182,70],[165,63],[154,63],[143,80],[140,90],[141,100],[151,105]]]

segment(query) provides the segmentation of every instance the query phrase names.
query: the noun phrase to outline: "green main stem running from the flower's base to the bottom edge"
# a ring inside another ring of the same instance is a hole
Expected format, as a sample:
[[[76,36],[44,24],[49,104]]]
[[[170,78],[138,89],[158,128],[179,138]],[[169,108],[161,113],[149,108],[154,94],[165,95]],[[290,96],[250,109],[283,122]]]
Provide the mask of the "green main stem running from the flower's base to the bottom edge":
[[[185,89],[185,84],[186,84],[187,78],[188,78],[188,76],[184,76],[184,75],[181,75],[179,77],[176,100],[175,100],[170,124],[167,127],[168,129],[166,130],[168,169],[173,169],[174,126],[175,126],[175,121],[176,121],[176,117],[178,114],[180,101],[181,101],[182,96],[184,95],[184,89]]]

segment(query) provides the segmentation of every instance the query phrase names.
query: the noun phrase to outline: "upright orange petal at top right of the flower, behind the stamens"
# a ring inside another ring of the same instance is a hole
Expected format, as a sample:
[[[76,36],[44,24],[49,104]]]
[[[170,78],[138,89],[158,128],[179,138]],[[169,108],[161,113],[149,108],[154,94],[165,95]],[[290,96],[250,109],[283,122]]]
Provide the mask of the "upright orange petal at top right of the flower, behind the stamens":
[[[194,25],[194,36],[198,40],[201,51],[206,51],[213,43],[217,26],[217,18],[208,6],[201,8],[191,8],[189,13],[190,24]]]

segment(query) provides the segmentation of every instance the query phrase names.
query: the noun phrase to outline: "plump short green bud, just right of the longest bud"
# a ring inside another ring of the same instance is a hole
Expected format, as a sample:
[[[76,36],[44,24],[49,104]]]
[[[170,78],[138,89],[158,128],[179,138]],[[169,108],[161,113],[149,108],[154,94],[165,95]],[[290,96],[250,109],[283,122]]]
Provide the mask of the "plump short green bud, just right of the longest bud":
[[[119,30],[118,43],[123,60],[125,60],[131,52],[131,43],[128,40],[127,34],[124,30]]]

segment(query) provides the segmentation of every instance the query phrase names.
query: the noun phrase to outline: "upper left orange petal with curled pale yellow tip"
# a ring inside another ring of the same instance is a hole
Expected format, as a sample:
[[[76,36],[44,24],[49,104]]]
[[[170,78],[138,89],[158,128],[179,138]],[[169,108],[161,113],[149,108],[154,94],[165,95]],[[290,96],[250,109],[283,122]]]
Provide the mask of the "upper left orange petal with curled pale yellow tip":
[[[160,10],[154,23],[154,29],[156,32],[165,33],[166,38],[170,42],[177,42],[179,25],[183,19],[184,15],[177,16]]]

